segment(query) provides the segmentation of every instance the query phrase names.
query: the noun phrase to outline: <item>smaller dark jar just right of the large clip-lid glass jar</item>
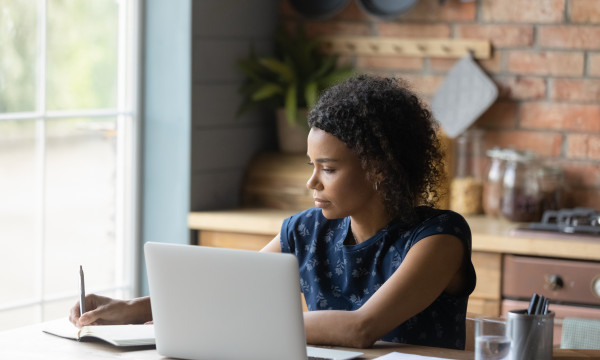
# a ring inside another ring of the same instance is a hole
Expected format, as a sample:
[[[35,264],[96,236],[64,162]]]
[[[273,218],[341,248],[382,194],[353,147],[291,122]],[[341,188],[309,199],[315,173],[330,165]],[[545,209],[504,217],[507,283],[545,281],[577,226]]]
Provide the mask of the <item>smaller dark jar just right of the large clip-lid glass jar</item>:
[[[541,192],[541,211],[559,210],[565,204],[565,173],[558,166],[542,166],[538,170]]]

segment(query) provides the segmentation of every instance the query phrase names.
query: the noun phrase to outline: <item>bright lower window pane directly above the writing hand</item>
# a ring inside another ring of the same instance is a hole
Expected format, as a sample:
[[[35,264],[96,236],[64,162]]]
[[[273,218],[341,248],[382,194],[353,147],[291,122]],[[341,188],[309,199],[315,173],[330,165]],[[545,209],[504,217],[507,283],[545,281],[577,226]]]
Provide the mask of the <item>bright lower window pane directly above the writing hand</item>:
[[[115,281],[115,118],[46,123],[46,296]],[[65,281],[72,279],[72,281]]]

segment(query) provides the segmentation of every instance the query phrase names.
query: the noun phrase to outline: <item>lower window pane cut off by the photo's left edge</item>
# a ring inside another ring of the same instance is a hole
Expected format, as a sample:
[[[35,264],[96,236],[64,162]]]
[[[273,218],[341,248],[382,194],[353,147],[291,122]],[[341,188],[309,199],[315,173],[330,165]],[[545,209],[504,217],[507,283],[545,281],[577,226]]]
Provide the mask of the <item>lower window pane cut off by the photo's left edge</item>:
[[[35,130],[35,121],[0,121],[0,305],[36,295]]]

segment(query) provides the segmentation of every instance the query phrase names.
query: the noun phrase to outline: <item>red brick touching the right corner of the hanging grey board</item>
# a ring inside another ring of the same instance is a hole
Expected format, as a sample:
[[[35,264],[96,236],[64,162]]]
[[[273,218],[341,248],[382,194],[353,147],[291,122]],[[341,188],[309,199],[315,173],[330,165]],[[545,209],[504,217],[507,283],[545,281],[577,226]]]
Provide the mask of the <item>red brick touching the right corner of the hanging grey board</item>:
[[[546,97],[546,80],[531,76],[497,76],[499,97],[513,100],[541,100]]]

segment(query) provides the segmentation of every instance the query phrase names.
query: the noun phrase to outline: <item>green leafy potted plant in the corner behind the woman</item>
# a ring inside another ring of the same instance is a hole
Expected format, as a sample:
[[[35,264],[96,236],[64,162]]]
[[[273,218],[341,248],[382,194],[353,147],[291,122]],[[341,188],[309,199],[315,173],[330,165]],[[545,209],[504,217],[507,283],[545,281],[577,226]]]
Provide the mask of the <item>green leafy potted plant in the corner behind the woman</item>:
[[[258,106],[276,110],[283,152],[305,151],[308,109],[321,91],[353,72],[350,66],[338,65],[338,56],[320,52],[319,46],[319,40],[309,38],[301,28],[294,34],[281,29],[276,33],[274,56],[258,56],[251,47],[248,57],[237,63],[245,75],[238,115]],[[298,139],[282,139],[289,133]]]

